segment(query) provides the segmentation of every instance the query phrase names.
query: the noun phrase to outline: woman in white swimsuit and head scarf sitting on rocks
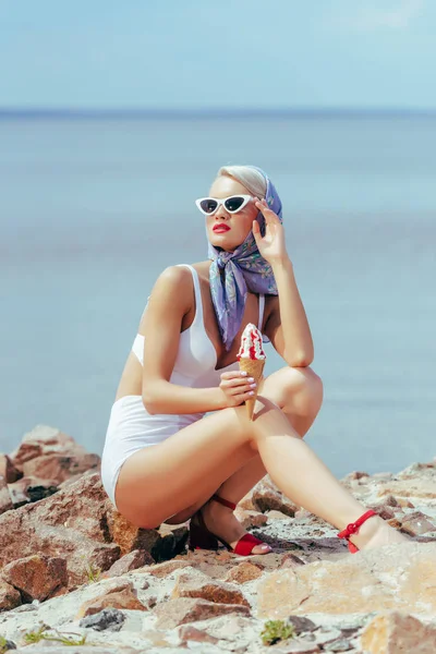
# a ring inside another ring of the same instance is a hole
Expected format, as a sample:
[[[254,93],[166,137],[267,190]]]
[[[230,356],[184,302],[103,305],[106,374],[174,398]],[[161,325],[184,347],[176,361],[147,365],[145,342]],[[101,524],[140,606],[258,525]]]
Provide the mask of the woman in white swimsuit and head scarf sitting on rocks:
[[[308,367],[312,337],[274,184],[253,166],[225,167],[196,204],[208,261],[157,279],[112,407],[101,476],[113,505],[142,528],[191,518],[193,548],[217,548],[218,538],[238,554],[267,554],[233,509],[268,472],[295,504],[342,530],[350,549],[403,541],[364,513],[302,439],[323,390]],[[243,402],[254,380],[237,361],[249,323],[287,364],[261,382],[253,421]]]

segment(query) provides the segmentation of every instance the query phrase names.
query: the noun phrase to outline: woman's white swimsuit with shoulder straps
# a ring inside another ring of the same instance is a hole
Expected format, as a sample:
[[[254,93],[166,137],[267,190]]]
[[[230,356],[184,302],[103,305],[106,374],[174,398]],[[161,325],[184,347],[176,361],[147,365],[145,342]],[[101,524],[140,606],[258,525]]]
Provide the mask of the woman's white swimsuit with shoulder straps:
[[[179,265],[185,266],[192,272],[196,310],[192,325],[180,335],[178,355],[170,383],[191,388],[219,386],[221,373],[239,370],[239,363],[235,361],[226,367],[216,370],[217,353],[204,326],[198,274],[187,264]],[[259,295],[258,328],[261,330],[264,307],[265,295]],[[144,336],[141,334],[136,335],[132,351],[143,364]],[[105,491],[116,508],[116,485],[121,467],[128,458],[144,447],[161,443],[204,415],[205,413],[152,415],[145,409],[141,396],[124,396],[113,403],[101,456],[101,480]]]

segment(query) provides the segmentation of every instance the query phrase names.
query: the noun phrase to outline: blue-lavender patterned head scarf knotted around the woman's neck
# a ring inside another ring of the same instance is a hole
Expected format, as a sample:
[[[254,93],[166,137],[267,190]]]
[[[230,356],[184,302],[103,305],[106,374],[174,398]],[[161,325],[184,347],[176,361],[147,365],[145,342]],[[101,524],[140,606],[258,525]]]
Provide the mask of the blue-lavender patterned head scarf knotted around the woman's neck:
[[[264,175],[268,207],[282,221],[281,201],[272,182],[261,168],[255,168]],[[264,237],[266,226],[261,211],[256,220]],[[211,299],[221,338],[226,350],[229,351],[241,327],[247,292],[277,295],[277,284],[271,266],[257,249],[253,231],[234,252],[217,250],[209,243],[208,257],[213,261],[209,269]]]

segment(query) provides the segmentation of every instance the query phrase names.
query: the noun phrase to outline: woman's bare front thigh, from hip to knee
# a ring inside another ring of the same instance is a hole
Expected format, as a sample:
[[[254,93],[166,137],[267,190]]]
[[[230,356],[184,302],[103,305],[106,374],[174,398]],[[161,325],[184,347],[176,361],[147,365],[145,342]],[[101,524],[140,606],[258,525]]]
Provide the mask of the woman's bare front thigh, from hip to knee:
[[[153,528],[201,506],[256,455],[245,411],[244,405],[223,409],[129,457],[116,486],[118,510],[134,524]]]

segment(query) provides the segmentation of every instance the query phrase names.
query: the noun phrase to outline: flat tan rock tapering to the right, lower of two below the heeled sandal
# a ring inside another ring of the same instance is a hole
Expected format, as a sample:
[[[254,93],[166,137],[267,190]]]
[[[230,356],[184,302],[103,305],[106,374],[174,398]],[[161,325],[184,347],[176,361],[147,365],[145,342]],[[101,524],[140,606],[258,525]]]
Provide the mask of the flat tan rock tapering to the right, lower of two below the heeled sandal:
[[[239,604],[218,604],[207,600],[180,597],[170,602],[162,602],[155,608],[157,616],[156,629],[173,629],[186,622],[207,620],[215,616],[237,614],[250,616],[247,606]]]

